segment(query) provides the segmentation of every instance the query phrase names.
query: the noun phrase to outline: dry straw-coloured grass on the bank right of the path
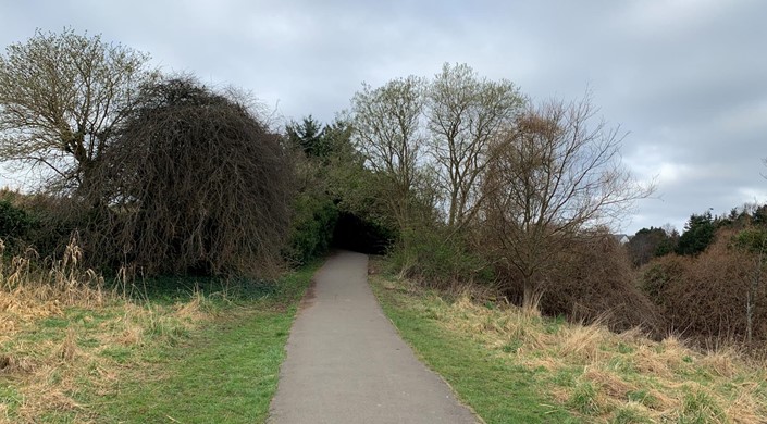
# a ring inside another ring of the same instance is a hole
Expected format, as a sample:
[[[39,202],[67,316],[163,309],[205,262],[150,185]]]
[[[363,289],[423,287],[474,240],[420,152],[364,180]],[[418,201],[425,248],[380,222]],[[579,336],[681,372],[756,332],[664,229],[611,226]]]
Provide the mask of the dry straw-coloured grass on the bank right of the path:
[[[702,353],[675,336],[658,342],[638,328],[615,334],[601,323],[552,321],[530,308],[479,304],[468,295],[451,302],[436,295],[421,299],[413,302],[421,303],[417,308],[444,328],[497,356],[550,375],[571,375],[572,385],[554,378],[546,384],[555,401],[572,403],[583,385],[593,387],[589,401],[596,412],[584,416],[589,422],[613,422],[619,413],[650,422],[766,422],[765,363],[750,362],[737,349]]]

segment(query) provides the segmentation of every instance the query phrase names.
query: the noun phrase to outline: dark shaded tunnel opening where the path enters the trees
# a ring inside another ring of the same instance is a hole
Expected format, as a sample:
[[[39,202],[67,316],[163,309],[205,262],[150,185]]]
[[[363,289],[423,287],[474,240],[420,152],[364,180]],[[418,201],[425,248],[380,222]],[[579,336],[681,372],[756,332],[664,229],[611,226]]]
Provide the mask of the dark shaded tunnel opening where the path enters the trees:
[[[366,254],[384,254],[392,240],[391,229],[355,214],[342,212],[333,230],[332,246]]]

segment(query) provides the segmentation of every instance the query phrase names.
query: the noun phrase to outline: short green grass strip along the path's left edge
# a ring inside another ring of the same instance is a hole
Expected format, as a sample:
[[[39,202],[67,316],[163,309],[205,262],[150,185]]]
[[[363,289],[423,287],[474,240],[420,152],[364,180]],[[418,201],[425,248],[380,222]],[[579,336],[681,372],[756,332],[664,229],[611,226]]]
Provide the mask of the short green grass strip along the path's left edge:
[[[99,421],[264,422],[297,304],[316,269],[282,279],[269,296],[219,311],[211,325],[176,347],[147,352],[151,365],[127,373],[95,404],[103,411]]]

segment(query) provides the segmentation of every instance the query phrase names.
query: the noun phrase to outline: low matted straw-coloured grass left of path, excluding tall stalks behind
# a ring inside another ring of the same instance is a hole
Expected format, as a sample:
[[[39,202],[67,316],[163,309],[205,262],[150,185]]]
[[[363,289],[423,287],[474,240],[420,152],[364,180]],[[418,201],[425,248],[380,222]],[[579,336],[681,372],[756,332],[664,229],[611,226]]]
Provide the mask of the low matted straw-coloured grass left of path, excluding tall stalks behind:
[[[11,382],[24,399],[11,421],[32,423],[55,412],[88,422],[87,408],[75,401],[83,381],[94,392],[106,394],[121,371],[136,366],[129,360],[115,360],[110,351],[143,349],[152,340],[191,329],[205,319],[197,308],[180,303],[161,309],[121,302],[99,310],[77,308],[81,313],[92,313],[86,317],[100,315],[98,326],[70,322],[62,329],[63,337],[51,335],[42,341],[27,339],[39,329],[39,322],[28,322],[3,344],[5,353],[0,354],[0,382]]]

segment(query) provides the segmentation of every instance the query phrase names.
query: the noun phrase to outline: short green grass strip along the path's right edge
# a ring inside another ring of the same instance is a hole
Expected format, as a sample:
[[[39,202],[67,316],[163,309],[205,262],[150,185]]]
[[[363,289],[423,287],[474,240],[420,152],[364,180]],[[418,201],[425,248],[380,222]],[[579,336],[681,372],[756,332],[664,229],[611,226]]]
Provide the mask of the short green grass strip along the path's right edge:
[[[540,371],[517,365],[469,337],[444,329],[433,311],[412,303],[420,299],[384,288],[380,278],[371,278],[371,283],[403,338],[486,423],[579,422],[540,391]],[[502,349],[516,348],[512,342]]]

